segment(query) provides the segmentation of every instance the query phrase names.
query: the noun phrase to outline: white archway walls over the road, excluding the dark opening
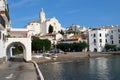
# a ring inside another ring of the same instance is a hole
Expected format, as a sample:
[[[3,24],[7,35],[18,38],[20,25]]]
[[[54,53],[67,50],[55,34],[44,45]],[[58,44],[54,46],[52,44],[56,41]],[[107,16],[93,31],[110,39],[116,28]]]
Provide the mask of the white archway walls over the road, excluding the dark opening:
[[[8,38],[5,43],[5,52],[7,60],[12,57],[11,49],[14,44],[23,48],[23,58],[25,61],[31,61],[31,38]]]

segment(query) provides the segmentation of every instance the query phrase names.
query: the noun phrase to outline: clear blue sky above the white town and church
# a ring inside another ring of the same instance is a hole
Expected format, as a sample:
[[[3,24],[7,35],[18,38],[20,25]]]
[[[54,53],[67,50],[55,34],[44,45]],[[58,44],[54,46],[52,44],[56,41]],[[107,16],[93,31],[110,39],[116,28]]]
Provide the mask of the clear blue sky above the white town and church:
[[[56,17],[63,27],[120,24],[120,0],[7,0],[12,27],[22,28],[39,20],[41,8],[46,18]]]

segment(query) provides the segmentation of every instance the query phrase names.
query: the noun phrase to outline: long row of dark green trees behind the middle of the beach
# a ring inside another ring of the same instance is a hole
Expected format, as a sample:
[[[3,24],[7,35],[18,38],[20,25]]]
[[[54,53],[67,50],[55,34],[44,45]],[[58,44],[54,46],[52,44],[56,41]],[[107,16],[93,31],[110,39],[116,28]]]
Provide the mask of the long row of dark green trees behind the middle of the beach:
[[[88,44],[86,42],[79,42],[79,43],[60,43],[57,44],[57,48],[63,51],[82,51],[83,49],[87,48]]]

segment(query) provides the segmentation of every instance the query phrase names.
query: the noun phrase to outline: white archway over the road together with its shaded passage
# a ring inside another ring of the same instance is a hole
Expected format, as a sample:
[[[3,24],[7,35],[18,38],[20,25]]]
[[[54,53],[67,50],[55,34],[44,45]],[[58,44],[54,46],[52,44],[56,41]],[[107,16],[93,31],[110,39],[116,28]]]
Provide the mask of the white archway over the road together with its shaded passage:
[[[18,48],[18,51],[16,50]],[[8,38],[5,44],[6,59],[22,58],[31,61],[31,38]],[[14,55],[20,54],[20,55]]]

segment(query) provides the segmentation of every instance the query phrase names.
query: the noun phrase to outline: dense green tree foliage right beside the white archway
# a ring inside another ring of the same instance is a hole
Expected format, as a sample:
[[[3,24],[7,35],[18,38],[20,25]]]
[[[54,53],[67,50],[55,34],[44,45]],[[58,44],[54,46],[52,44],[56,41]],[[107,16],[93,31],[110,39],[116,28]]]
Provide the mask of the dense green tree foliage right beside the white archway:
[[[32,40],[32,50],[50,50],[51,42],[48,39],[38,39],[35,38]]]

